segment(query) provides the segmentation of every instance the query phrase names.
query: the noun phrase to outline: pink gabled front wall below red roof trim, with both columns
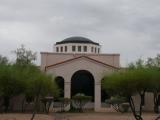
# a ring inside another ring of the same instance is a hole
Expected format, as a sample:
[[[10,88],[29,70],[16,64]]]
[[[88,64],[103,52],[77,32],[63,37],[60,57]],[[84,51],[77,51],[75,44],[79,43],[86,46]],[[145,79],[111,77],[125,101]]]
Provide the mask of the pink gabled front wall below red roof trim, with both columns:
[[[54,76],[61,76],[64,78],[65,97],[71,97],[71,78],[73,74],[79,70],[87,70],[94,77],[94,96],[95,111],[101,109],[101,80],[106,74],[112,73],[115,68],[96,62],[86,57],[80,57],[72,61],[68,61],[62,64],[47,67],[46,72]]]

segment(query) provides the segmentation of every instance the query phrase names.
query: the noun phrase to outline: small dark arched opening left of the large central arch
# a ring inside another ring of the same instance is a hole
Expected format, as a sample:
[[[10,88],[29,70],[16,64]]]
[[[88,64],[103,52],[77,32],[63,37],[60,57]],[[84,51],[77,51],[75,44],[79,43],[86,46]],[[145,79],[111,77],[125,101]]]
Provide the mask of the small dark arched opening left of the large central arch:
[[[55,78],[55,82],[60,89],[60,97],[64,97],[64,78],[61,76],[57,76]]]

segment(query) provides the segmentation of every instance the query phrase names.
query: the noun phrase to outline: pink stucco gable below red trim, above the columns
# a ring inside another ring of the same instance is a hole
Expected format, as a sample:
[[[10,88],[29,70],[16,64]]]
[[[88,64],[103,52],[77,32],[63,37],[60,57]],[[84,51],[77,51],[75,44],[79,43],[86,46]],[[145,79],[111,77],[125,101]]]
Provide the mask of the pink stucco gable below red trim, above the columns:
[[[102,78],[104,74],[109,74],[113,72],[114,69],[100,63],[94,63],[87,58],[80,58],[54,67],[49,67],[47,72],[55,74],[56,76],[72,76],[78,70],[88,70],[94,77]],[[95,81],[100,82],[97,79],[95,79]]]

